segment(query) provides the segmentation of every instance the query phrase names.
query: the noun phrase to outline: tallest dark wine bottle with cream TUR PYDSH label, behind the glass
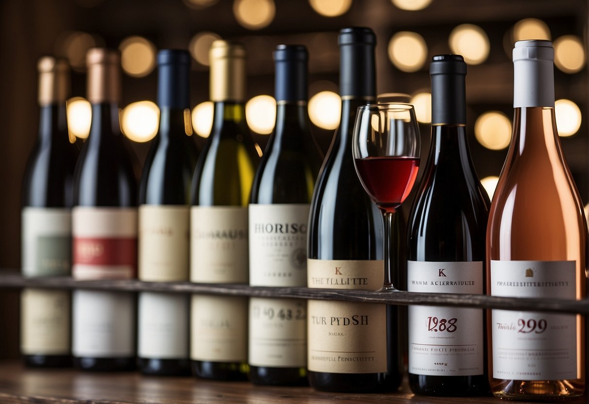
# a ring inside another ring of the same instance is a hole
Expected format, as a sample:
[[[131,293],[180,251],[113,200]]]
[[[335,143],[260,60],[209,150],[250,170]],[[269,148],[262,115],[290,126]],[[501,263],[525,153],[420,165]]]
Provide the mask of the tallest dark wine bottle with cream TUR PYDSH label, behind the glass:
[[[375,100],[375,45],[369,28],[340,31],[342,118],[313,191],[309,287],[376,290],[383,284],[382,218],[360,184],[352,156],[356,109]],[[343,326],[353,316],[365,320]],[[398,388],[402,367],[397,320],[395,306],[309,300],[310,385],[336,392]],[[345,356],[345,362],[338,360],[340,356]]]

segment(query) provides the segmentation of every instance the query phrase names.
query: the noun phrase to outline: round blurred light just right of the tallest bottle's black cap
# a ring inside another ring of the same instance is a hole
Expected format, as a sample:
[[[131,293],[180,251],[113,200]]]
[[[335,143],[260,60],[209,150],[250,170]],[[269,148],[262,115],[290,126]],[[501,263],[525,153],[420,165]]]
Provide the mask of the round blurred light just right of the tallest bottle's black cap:
[[[416,32],[397,32],[389,41],[389,59],[402,71],[418,71],[428,57],[428,45]]]

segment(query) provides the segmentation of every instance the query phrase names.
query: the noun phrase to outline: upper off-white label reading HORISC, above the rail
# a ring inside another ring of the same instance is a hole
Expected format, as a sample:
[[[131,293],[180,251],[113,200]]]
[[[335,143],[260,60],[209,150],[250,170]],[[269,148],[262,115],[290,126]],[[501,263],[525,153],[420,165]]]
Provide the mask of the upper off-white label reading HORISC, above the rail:
[[[250,285],[305,286],[309,204],[250,204]]]

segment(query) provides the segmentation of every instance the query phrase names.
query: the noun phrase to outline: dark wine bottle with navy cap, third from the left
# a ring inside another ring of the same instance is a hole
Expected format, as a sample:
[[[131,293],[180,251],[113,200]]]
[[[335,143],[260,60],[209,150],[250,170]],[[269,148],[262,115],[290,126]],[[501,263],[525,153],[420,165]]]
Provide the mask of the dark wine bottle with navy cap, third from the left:
[[[190,185],[198,150],[190,122],[190,54],[163,49],[157,55],[160,126],[140,183],[139,279],[188,280]],[[138,357],[147,375],[189,375],[188,295],[141,292]]]

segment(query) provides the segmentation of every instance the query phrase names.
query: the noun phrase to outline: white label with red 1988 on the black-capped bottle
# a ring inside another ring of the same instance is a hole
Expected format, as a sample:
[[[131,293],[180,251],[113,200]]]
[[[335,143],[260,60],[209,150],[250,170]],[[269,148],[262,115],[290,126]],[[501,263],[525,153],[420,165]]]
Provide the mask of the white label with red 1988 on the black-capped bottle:
[[[482,261],[408,261],[407,290],[483,293]],[[472,376],[484,373],[483,312],[409,306],[409,373]]]

